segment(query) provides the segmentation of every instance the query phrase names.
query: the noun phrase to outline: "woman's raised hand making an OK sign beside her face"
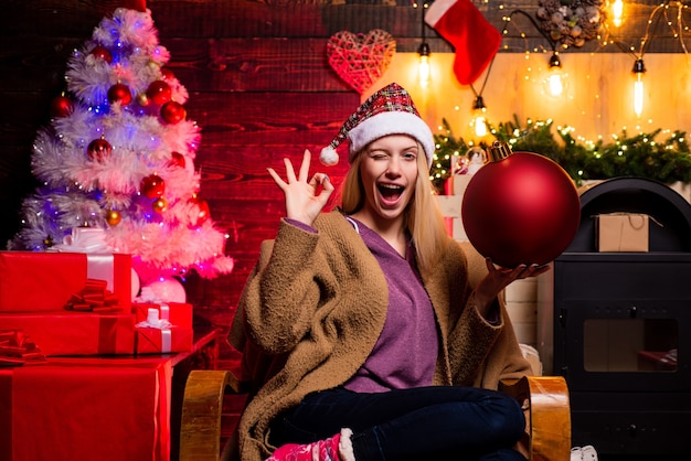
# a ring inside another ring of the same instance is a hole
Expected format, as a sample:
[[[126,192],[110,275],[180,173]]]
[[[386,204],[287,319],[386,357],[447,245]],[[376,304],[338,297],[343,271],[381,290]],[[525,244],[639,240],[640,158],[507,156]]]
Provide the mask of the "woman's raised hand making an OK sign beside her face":
[[[286,195],[286,217],[297,219],[309,226],[315,223],[334,189],[326,173],[315,173],[308,182],[310,158],[309,150],[305,149],[302,164],[300,164],[297,178],[290,160],[284,159],[287,181],[284,181],[276,173],[276,170],[267,168],[268,174]],[[321,191],[317,193],[319,187]]]

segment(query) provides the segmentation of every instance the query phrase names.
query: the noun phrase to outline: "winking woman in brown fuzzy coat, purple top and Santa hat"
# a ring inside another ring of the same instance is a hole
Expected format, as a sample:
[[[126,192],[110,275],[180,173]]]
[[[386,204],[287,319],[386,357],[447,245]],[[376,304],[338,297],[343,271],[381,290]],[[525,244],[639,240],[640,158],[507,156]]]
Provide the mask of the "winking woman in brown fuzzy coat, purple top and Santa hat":
[[[322,161],[350,144],[341,206],[310,153],[286,180],[276,239],[262,246],[231,343],[255,384],[243,461],[522,460],[525,421],[497,392],[529,372],[498,294],[546,268],[496,268],[475,290],[427,174],[434,138],[396,84],[372,95]]]

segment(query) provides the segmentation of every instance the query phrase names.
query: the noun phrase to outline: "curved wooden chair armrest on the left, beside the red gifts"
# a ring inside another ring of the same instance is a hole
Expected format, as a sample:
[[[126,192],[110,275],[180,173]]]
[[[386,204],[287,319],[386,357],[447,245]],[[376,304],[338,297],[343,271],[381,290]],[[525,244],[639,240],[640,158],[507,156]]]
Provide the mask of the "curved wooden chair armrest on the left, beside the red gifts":
[[[245,394],[245,384],[228,371],[190,372],[182,401],[180,461],[220,459],[223,396],[227,392]]]

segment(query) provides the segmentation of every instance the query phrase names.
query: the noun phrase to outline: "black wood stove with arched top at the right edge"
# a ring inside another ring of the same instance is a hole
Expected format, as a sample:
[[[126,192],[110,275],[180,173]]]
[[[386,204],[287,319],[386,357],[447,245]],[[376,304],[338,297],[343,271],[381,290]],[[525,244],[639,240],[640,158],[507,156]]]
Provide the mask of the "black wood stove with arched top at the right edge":
[[[597,253],[595,216],[609,213],[649,215],[649,251]],[[599,183],[552,269],[538,345],[568,383],[573,444],[605,460],[691,460],[691,205],[650,180]]]

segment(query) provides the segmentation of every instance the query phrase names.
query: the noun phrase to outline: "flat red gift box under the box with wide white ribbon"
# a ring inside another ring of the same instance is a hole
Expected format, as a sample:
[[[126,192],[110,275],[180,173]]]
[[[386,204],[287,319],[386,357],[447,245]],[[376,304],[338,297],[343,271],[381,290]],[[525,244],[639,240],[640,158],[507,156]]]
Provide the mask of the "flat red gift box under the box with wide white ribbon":
[[[21,330],[54,355],[111,355],[135,352],[135,317],[131,313],[54,311],[0,313],[0,329]]]

